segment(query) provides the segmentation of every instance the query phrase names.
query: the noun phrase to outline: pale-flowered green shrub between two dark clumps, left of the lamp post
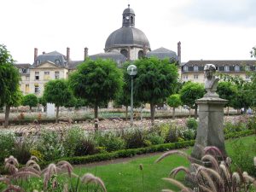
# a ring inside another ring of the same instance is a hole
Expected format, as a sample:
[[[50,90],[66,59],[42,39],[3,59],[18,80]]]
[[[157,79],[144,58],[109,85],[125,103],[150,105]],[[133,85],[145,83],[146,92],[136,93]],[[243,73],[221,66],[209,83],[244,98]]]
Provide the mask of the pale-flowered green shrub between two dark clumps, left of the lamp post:
[[[125,148],[125,141],[113,132],[102,133],[96,135],[96,141],[99,146],[106,148],[108,152]]]

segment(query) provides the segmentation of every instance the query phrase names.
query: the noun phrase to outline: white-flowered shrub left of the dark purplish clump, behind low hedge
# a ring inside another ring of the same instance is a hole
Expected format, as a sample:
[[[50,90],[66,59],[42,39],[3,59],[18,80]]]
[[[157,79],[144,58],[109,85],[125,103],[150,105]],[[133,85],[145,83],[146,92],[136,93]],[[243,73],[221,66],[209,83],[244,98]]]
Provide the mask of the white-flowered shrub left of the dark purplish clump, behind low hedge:
[[[55,160],[65,155],[60,134],[57,131],[41,131],[36,148],[44,160]]]

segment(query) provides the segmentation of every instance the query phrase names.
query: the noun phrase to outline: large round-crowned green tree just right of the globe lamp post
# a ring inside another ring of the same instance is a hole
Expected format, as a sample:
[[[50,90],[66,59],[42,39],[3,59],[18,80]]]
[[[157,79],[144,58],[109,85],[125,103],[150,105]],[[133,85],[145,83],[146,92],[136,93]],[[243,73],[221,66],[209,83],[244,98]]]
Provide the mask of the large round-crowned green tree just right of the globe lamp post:
[[[134,95],[138,102],[150,104],[151,123],[154,125],[155,105],[172,95],[177,84],[177,66],[168,59],[142,58],[134,62]]]

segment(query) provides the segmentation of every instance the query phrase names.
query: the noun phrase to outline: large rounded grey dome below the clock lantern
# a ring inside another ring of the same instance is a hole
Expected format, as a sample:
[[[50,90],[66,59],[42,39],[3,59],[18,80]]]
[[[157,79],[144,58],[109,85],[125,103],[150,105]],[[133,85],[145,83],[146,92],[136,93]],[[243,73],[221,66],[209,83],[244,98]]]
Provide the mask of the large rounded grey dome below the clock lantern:
[[[142,48],[146,46],[150,49],[148,38],[144,32],[135,27],[123,26],[108,36],[105,49],[121,46],[137,46]]]

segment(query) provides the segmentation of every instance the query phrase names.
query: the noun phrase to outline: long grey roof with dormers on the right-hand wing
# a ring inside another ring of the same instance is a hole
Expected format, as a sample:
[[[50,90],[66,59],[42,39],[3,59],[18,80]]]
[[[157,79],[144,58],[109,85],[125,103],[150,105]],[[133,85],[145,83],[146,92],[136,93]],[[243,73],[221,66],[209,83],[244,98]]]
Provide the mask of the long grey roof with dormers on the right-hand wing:
[[[205,66],[206,64],[214,64],[215,66],[254,66],[255,60],[190,60],[184,65],[186,66]],[[183,66],[184,66],[183,65]]]

